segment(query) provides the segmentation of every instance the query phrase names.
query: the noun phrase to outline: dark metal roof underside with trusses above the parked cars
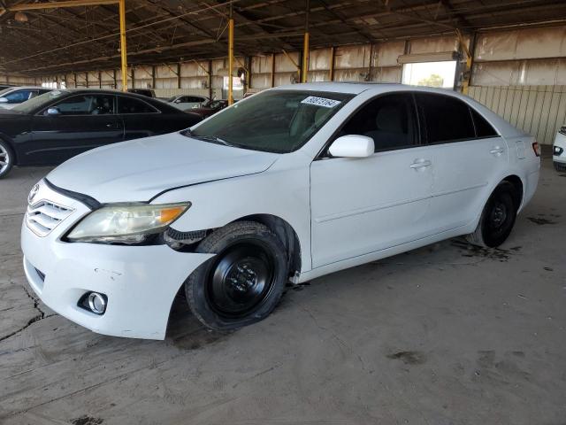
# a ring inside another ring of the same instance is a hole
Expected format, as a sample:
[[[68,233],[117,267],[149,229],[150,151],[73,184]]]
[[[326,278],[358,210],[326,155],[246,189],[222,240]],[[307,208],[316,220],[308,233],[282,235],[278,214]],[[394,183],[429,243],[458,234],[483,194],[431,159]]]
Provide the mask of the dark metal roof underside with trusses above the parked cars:
[[[118,4],[18,11],[31,1],[0,0],[0,73],[119,66]],[[233,0],[234,54],[302,50],[307,3],[310,49],[566,22],[564,0]],[[128,65],[226,57],[228,11],[226,0],[126,0]]]

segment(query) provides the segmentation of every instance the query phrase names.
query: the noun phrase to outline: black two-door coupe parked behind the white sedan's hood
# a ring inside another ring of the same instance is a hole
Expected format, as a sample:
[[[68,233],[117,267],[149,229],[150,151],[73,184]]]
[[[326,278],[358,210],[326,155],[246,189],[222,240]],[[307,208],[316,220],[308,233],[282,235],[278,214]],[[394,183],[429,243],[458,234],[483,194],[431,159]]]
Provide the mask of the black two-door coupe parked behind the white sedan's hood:
[[[0,110],[0,177],[11,166],[59,164],[81,152],[190,127],[197,114],[114,90],[53,90]]]

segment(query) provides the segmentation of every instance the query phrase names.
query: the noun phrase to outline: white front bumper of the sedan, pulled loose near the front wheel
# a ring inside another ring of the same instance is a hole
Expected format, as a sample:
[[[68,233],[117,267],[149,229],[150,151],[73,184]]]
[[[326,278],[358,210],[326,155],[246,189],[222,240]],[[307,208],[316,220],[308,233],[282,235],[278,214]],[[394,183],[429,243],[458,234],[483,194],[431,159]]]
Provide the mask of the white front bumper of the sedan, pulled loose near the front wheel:
[[[73,209],[47,236],[21,228],[24,269],[45,305],[81,326],[110,336],[163,339],[172,301],[187,276],[213,254],[181,253],[166,245],[65,243],[65,235],[90,210],[40,183],[35,198]],[[103,315],[78,305],[87,292],[106,294]]]

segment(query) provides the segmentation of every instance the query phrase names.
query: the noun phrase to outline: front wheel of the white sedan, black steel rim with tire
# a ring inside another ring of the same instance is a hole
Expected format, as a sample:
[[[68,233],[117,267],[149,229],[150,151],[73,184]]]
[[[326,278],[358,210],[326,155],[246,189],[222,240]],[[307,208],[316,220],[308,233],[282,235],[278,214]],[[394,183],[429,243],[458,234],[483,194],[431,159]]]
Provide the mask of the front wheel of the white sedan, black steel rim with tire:
[[[185,282],[195,317],[216,330],[261,321],[279,303],[287,282],[287,251],[266,226],[236,221],[219,228],[195,252],[215,253]]]

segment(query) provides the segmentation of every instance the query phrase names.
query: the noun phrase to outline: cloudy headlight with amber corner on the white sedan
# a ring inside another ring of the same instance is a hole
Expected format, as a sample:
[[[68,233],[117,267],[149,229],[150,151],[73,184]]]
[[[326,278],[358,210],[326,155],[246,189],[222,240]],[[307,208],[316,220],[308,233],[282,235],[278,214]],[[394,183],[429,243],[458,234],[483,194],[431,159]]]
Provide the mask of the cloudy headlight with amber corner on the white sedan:
[[[160,233],[191,206],[114,204],[89,213],[66,236],[72,242],[141,243]]]

